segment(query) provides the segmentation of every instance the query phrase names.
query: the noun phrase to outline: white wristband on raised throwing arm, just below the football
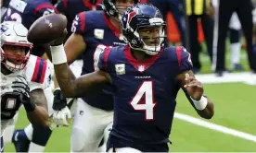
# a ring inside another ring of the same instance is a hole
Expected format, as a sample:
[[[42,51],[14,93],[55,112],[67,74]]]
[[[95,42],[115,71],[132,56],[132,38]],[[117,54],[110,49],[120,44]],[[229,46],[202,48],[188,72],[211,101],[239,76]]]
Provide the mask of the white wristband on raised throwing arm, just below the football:
[[[50,46],[52,53],[52,62],[54,65],[60,65],[67,63],[67,56],[63,47],[63,44],[58,46]]]

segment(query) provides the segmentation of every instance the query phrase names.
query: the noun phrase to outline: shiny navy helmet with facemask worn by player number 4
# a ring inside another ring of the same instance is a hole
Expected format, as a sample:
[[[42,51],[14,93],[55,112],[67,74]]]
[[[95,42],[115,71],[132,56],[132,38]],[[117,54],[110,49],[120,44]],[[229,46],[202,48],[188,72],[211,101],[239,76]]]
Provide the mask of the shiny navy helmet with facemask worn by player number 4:
[[[165,21],[160,10],[149,4],[139,4],[129,7],[122,16],[122,35],[126,43],[135,50],[143,51],[149,55],[160,52],[165,39]],[[158,37],[149,36],[149,39],[156,40],[154,45],[146,43],[148,37],[139,34],[140,29],[158,28]]]

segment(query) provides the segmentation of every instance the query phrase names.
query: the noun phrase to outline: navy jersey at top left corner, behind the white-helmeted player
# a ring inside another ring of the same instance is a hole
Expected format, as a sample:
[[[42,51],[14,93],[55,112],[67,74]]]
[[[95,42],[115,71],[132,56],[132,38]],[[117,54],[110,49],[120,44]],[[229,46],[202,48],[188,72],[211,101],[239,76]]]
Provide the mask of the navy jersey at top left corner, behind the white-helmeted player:
[[[58,13],[50,0],[11,0],[7,9],[5,20],[21,22],[27,29],[42,16]],[[34,45],[32,54],[42,56],[45,53],[43,46]]]

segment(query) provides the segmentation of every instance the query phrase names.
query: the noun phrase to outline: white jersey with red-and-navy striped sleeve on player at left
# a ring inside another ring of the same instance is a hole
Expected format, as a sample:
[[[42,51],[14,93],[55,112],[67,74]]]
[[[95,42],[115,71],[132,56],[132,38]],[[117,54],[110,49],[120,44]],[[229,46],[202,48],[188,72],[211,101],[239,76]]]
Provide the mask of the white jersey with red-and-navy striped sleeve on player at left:
[[[19,93],[13,92],[12,82],[17,76],[26,78],[30,90],[48,88],[51,82],[50,68],[47,61],[31,55],[26,67],[20,71],[4,75],[1,73],[1,119],[11,119],[21,104]]]

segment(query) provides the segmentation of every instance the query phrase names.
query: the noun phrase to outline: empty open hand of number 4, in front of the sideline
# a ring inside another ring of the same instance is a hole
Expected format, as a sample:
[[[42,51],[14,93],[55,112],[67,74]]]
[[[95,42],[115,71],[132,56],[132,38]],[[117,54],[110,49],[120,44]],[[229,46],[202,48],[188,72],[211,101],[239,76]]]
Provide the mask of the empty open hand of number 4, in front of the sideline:
[[[194,76],[189,76],[186,74],[186,88],[187,93],[193,100],[200,100],[203,95],[203,87],[202,83],[198,81]]]

